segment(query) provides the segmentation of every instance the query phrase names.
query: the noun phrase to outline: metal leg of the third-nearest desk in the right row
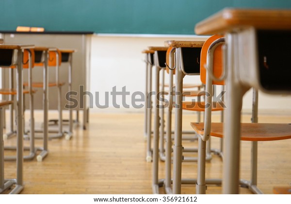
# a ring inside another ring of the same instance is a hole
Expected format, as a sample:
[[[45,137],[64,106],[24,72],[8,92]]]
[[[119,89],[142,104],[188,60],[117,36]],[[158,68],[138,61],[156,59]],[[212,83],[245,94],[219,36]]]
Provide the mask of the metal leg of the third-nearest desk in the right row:
[[[159,193],[159,179],[158,179],[158,170],[159,170],[159,89],[160,89],[160,67],[158,66],[157,60],[157,51],[155,51],[155,92],[156,96],[154,99],[154,136],[153,136],[153,193]]]

